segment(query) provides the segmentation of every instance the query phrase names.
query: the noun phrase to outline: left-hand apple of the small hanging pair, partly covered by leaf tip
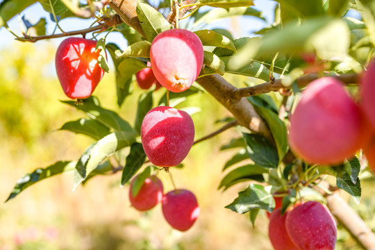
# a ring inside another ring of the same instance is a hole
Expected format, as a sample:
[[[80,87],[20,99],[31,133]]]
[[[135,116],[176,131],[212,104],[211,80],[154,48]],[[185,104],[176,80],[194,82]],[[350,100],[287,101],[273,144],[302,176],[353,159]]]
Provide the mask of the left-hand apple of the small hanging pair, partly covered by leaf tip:
[[[136,177],[135,177],[136,178]],[[163,183],[156,176],[149,176],[144,180],[138,193],[133,196],[133,183],[131,181],[129,189],[129,200],[131,205],[140,211],[147,211],[160,203],[163,199]]]

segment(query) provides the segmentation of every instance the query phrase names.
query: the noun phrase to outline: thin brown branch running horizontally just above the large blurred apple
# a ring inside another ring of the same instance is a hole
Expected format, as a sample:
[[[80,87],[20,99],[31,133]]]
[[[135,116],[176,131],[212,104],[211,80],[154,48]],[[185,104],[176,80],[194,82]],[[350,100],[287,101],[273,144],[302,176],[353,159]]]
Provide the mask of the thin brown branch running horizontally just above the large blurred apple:
[[[308,83],[314,81],[320,76],[321,75],[317,73],[306,74],[306,75],[300,76],[299,78],[297,78],[297,85],[299,86],[299,88],[303,88],[306,85],[308,85]],[[340,81],[342,81],[345,84],[358,83],[357,74],[346,74],[342,76],[333,76],[333,77],[338,78]],[[261,83],[252,87],[237,89],[232,92],[231,98],[234,100],[239,100],[242,97],[251,97],[257,94],[265,94],[265,93],[269,93],[272,91],[280,90],[282,88],[285,88],[285,86],[282,84],[282,80],[277,79],[275,81]],[[288,89],[288,88],[290,87],[286,87],[285,89]]]

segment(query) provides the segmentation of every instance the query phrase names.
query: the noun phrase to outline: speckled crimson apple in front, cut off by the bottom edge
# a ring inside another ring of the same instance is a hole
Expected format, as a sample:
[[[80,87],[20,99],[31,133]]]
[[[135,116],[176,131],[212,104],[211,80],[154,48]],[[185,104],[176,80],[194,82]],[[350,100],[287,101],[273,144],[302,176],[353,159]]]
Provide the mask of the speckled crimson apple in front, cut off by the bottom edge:
[[[285,228],[292,242],[302,250],[333,250],[337,226],[329,210],[317,201],[307,201],[291,210]]]

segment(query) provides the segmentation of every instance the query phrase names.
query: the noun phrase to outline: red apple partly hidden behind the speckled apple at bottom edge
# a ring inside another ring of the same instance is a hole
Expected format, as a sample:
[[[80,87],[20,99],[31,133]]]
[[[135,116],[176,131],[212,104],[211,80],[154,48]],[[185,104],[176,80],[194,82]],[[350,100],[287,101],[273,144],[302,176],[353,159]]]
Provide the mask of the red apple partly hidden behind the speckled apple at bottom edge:
[[[269,217],[268,236],[275,250],[299,250],[290,240],[285,228],[288,211],[281,215],[281,208],[277,208]]]

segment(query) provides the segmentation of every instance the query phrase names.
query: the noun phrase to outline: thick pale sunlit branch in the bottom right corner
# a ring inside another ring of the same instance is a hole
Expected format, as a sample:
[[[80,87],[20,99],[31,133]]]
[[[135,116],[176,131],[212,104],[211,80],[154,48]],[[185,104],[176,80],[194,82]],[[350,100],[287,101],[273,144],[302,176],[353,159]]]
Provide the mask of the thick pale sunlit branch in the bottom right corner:
[[[340,224],[351,233],[354,239],[367,250],[375,250],[375,234],[363,222],[363,219],[354,211],[347,202],[340,197],[338,192],[334,192],[326,197],[327,206],[332,215],[335,216]]]

